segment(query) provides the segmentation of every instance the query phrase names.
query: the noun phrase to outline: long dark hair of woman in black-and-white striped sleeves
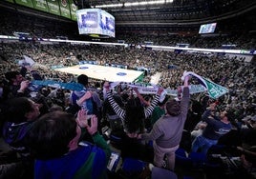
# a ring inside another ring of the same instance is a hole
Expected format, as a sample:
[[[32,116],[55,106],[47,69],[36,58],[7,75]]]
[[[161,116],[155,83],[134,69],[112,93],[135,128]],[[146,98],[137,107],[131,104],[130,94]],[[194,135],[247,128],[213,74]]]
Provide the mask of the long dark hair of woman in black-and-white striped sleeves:
[[[145,112],[138,97],[132,97],[125,106],[125,126],[128,132],[143,132]]]

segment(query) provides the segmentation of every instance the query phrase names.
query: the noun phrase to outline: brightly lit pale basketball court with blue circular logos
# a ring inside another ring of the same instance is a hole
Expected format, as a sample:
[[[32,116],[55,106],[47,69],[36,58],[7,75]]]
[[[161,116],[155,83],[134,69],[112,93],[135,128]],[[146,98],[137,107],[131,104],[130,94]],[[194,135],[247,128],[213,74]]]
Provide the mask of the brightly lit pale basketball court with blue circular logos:
[[[134,82],[137,78],[139,78],[140,75],[143,74],[143,71],[139,70],[126,70],[114,67],[97,66],[92,64],[83,64],[55,70],[76,75],[86,74],[90,78],[107,80],[110,82]]]

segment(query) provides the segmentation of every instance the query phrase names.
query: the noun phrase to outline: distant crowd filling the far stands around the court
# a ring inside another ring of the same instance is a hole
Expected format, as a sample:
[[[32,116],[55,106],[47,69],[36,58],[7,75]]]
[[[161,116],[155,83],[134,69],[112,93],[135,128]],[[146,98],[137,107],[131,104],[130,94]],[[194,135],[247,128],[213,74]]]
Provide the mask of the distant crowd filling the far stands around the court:
[[[65,52],[63,52],[65,51]],[[62,82],[75,80],[75,75],[51,70],[53,65],[74,66],[82,60],[93,60],[98,65],[123,64],[128,69],[138,67],[149,69],[145,82],[150,76],[161,73],[159,84],[163,88],[176,89],[181,85],[181,73],[194,71],[220,84],[229,93],[224,96],[226,105],[241,106],[247,112],[255,103],[255,67],[253,62],[245,62],[244,57],[228,55],[208,55],[199,53],[176,53],[160,50],[141,50],[122,47],[80,46],[80,45],[39,45],[32,43],[1,44],[1,76],[10,70],[18,70],[17,61],[26,54],[38,64],[37,70],[47,79]],[[174,69],[169,69],[174,65]],[[228,71],[228,72],[227,72]],[[96,80],[93,80],[96,81]]]

